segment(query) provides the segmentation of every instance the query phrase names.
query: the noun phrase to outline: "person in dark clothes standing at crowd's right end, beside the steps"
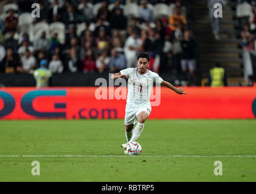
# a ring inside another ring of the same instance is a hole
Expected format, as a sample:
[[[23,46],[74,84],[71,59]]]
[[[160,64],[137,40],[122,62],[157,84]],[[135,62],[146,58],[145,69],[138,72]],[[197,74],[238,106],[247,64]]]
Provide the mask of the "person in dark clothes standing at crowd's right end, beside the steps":
[[[190,31],[184,32],[184,40],[181,41],[182,53],[181,53],[181,70],[186,72],[189,69],[191,81],[195,83],[195,69],[196,69],[196,42],[191,38]]]

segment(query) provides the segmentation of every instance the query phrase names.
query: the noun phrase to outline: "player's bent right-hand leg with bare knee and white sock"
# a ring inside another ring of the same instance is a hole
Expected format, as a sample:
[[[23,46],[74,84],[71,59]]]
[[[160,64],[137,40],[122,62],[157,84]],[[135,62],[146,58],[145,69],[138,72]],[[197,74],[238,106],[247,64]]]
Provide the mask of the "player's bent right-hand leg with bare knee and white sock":
[[[133,136],[131,137],[130,141],[128,141],[128,143],[137,141],[137,139],[139,139],[139,136],[144,129],[144,124],[145,124],[145,121],[148,119],[150,111],[151,111],[151,109],[149,109],[149,108],[145,108],[145,109],[142,109],[141,111],[139,111],[139,113],[137,114],[137,121],[138,121],[137,125],[134,128]]]

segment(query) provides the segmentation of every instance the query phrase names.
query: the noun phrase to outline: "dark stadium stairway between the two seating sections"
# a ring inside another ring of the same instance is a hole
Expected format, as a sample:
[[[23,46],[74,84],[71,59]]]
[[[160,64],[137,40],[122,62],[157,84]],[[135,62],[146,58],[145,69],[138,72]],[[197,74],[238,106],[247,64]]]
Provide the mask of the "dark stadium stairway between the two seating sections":
[[[209,10],[206,1],[192,0],[193,32],[199,46],[199,72],[202,79],[209,76],[209,70],[215,62],[220,62],[226,70],[227,78],[241,80],[243,78],[241,49],[238,48],[240,39],[235,33],[234,10],[228,0],[227,7],[223,10],[220,25],[220,40],[216,41],[210,24]],[[240,82],[232,85],[239,85]]]

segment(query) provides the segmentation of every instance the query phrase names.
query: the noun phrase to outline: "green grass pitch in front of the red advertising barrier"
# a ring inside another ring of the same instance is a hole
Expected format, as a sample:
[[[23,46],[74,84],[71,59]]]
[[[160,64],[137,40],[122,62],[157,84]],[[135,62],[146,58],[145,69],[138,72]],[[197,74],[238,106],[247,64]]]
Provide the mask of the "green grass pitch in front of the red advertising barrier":
[[[139,156],[123,153],[125,140],[118,119],[0,121],[0,181],[256,181],[253,119],[149,119]]]

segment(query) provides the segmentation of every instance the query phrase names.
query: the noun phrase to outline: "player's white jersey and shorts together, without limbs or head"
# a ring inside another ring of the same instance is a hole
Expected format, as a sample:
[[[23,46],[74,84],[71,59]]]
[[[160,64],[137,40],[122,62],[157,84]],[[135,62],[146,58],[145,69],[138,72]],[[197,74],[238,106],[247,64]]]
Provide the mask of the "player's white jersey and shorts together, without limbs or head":
[[[161,84],[162,78],[154,72],[140,75],[137,68],[127,68],[120,71],[128,78],[128,94],[125,107],[125,125],[135,124],[140,112],[151,112],[150,93],[153,82]]]

